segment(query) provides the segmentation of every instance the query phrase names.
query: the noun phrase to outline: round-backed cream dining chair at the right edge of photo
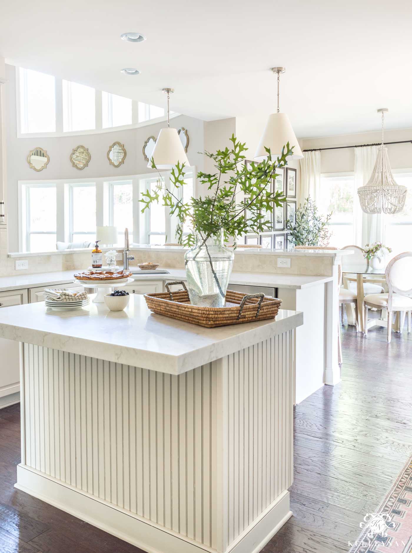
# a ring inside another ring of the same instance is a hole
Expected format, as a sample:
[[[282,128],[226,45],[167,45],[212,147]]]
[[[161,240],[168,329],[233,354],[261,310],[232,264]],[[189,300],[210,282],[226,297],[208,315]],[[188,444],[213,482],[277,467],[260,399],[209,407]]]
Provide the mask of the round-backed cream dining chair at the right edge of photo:
[[[403,330],[405,314],[408,313],[408,333],[411,331],[412,315],[412,252],[396,255],[385,270],[385,280],[388,284],[387,294],[368,294],[363,298],[365,307],[365,335],[368,333],[368,309],[386,309],[388,311],[388,343],[392,338],[393,312],[399,311],[401,316],[400,332]]]

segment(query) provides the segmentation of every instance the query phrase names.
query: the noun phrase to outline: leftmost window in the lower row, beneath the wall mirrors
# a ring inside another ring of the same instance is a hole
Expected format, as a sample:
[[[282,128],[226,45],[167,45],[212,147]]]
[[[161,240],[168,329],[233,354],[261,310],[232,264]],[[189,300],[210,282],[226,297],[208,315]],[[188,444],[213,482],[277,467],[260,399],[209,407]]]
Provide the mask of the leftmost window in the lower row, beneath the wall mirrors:
[[[27,252],[56,249],[56,186],[27,187],[25,197],[25,247]]]

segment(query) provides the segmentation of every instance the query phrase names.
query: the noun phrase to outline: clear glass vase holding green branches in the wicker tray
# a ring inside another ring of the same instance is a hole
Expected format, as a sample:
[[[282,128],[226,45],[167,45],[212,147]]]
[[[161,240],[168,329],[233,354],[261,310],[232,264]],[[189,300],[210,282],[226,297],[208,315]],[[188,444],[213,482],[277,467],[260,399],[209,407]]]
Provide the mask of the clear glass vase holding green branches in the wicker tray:
[[[190,303],[202,307],[223,307],[234,253],[223,245],[223,230],[205,240],[196,233],[196,243],[185,254]]]

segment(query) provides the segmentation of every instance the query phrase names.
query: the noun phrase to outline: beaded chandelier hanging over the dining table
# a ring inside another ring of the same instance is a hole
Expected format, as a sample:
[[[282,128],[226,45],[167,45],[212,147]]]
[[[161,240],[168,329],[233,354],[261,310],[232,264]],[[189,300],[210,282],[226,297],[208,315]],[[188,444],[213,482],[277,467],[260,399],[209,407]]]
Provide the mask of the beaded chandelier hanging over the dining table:
[[[387,112],[387,108],[378,109],[378,113],[382,113],[382,144],[378,148],[371,178],[365,186],[358,188],[359,202],[365,213],[399,213],[405,205],[408,189],[393,178],[388,148],[383,143],[384,113]]]

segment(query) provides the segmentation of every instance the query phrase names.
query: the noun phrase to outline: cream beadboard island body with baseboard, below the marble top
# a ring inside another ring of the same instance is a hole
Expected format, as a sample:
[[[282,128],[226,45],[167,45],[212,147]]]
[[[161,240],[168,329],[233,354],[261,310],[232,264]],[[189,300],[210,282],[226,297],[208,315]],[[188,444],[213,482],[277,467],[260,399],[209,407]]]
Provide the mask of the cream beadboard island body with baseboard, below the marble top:
[[[290,517],[293,330],[179,375],[21,350],[17,488],[150,553],[257,553]]]

